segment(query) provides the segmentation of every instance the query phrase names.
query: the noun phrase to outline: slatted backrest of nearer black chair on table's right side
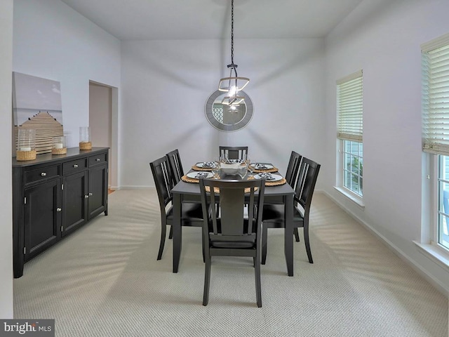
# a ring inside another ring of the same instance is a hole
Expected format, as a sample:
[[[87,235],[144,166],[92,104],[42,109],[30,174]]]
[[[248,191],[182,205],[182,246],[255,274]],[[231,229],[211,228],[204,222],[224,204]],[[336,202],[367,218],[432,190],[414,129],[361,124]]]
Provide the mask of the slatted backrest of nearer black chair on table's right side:
[[[314,194],[316,179],[320,171],[320,164],[302,157],[295,186],[295,201],[302,206],[304,212],[309,213],[311,197]]]

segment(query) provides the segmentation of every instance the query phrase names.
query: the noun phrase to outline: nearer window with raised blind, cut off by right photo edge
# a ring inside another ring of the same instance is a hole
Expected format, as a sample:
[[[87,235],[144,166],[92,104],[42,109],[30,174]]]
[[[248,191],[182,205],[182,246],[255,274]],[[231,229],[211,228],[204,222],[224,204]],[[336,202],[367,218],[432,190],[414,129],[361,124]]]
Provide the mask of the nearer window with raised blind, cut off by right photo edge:
[[[422,49],[422,150],[436,163],[431,180],[432,242],[449,250],[449,34]]]

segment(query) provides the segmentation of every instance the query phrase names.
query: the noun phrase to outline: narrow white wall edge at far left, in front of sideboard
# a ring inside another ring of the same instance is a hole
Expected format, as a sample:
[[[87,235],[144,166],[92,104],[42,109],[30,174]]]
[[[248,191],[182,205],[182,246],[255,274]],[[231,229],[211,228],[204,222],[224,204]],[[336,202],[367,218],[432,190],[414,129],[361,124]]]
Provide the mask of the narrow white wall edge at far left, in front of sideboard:
[[[0,317],[13,318],[13,205],[11,194],[11,93],[13,0],[0,1]]]

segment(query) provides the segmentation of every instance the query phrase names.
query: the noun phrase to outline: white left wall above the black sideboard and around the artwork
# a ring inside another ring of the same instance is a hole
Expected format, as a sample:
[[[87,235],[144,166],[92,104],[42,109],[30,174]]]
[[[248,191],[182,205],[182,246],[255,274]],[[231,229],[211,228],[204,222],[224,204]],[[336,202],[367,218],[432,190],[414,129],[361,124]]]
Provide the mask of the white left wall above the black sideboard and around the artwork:
[[[77,147],[89,80],[120,86],[120,41],[61,1],[15,0],[13,23],[13,71],[60,81],[67,146]]]

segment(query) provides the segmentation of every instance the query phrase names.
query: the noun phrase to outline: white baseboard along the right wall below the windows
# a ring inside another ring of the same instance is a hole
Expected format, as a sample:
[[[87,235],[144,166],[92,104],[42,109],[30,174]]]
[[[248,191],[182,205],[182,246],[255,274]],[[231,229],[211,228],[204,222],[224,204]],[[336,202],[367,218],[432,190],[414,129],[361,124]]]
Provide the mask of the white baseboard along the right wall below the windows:
[[[406,255],[406,253],[404,253],[401,249],[399,249],[398,246],[396,246],[391,241],[389,241],[389,239],[387,239],[382,234],[380,234],[380,232],[377,232],[377,230],[375,230],[375,228],[373,226],[369,225],[368,223],[366,223],[365,220],[362,220],[361,218],[356,216],[356,214],[354,214],[351,211],[349,211],[348,209],[346,209],[344,207],[344,205],[342,203],[340,203],[340,201],[335,199],[328,192],[323,191],[323,190],[319,190],[319,191],[316,191],[316,192],[323,193],[323,194],[326,195],[326,197],[329,197],[329,199],[334,201],[335,204],[337,204],[337,206],[340,207],[340,209],[342,209],[344,212],[349,214],[349,216],[351,216],[351,218],[354,218],[358,223],[363,225],[363,227],[366,227],[367,230],[369,230],[376,237],[378,237],[380,239],[380,242],[382,242],[388,249],[391,249],[391,251],[393,251],[399,258],[401,258],[401,260],[403,260],[408,265],[410,265],[410,267],[412,267],[413,270],[415,270],[418,274],[420,274],[422,277],[424,277],[424,279],[426,279],[427,282],[432,284],[438,291],[443,293],[443,295],[445,295],[446,297],[449,296],[449,289],[446,289],[445,284],[442,284],[441,282],[439,282],[438,279],[435,279],[432,275],[429,275],[426,272],[426,270],[424,270],[421,267],[421,265],[418,265],[417,263],[415,263],[415,260],[412,260],[408,255]]]

